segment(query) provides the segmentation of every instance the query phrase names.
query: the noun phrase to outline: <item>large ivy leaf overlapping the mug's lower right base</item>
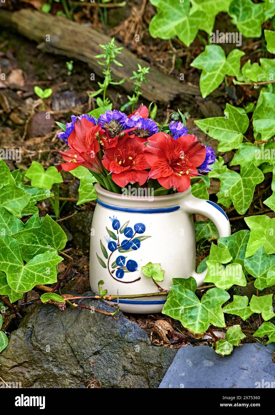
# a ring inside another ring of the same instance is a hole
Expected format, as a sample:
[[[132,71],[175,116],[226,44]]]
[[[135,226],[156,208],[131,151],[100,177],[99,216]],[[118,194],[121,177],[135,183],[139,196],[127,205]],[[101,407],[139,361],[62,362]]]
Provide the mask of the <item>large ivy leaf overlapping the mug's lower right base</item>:
[[[179,320],[197,338],[206,332],[210,323],[225,327],[222,304],[229,298],[221,288],[211,288],[199,300],[192,291],[176,285],[171,287],[162,313]]]

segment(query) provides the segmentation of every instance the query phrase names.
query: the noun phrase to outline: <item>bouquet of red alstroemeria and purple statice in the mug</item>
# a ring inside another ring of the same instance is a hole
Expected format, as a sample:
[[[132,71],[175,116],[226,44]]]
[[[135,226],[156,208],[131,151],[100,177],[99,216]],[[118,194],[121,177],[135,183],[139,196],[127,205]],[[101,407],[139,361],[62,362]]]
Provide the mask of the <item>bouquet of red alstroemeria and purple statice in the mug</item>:
[[[87,167],[103,188],[114,193],[125,194],[133,186],[158,195],[184,192],[192,177],[212,169],[215,154],[188,134],[179,114],[183,122],[161,127],[145,105],[130,115],[117,110],[107,110],[98,119],[72,115],[72,122],[58,133],[70,148],[58,150],[65,163],[56,167],[58,171]]]

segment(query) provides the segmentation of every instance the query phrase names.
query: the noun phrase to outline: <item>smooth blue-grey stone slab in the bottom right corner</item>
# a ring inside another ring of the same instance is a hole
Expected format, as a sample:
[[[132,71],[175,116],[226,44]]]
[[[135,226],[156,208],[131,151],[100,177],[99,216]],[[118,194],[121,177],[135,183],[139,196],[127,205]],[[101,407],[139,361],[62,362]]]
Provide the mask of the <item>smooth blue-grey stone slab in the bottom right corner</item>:
[[[181,347],[159,388],[275,388],[274,350],[243,344],[222,357],[208,346]]]

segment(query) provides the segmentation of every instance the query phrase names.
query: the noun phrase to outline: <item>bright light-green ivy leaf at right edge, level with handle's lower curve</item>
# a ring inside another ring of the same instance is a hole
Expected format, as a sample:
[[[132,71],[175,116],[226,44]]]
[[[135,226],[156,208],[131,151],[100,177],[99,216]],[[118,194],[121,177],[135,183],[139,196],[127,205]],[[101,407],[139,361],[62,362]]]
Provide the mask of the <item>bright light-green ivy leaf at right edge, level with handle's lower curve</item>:
[[[267,254],[275,253],[275,218],[257,215],[244,218],[251,233],[246,248],[246,258],[255,254],[259,247],[264,247]]]

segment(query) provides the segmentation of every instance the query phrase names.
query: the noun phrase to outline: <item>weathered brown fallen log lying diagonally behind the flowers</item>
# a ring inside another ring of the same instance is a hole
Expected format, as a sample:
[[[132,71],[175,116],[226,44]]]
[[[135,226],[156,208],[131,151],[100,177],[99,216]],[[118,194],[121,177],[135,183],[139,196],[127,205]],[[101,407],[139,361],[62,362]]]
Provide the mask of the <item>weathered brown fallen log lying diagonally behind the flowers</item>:
[[[86,62],[94,73],[102,76],[102,66],[94,56],[102,53],[98,44],[107,44],[111,40],[106,34],[77,22],[71,22],[64,17],[31,9],[21,9],[16,12],[0,9],[0,26],[17,30],[28,39],[36,41],[40,49]],[[119,45],[118,42],[116,43]],[[130,92],[134,88],[130,76],[137,69],[137,63],[142,67],[150,65],[138,59],[126,48],[121,52],[118,61],[123,63],[123,67],[116,65],[111,67],[113,78],[115,81],[125,78],[122,87]],[[180,95],[190,98],[200,96],[200,89],[197,86],[183,83],[153,67],[150,68],[147,80],[148,83],[142,85],[140,89],[142,96],[149,101],[170,102]],[[219,91],[216,91],[215,95],[220,95]]]

